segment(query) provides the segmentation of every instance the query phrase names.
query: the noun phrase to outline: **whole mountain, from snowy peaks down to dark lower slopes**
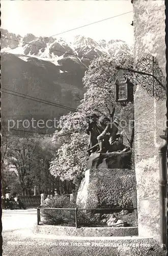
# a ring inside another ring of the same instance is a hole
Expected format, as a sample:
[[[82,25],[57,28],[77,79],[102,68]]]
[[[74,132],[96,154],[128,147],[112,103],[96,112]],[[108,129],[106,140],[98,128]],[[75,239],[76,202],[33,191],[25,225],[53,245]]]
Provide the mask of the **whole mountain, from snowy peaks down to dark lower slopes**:
[[[1,34],[2,87],[71,108],[79,104],[75,95],[85,91],[82,77],[92,59],[131,52],[122,40],[95,41],[77,35],[68,42],[61,37],[20,36],[4,29]],[[2,105],[7,118],[51,119],[69,112],[6,93]]]

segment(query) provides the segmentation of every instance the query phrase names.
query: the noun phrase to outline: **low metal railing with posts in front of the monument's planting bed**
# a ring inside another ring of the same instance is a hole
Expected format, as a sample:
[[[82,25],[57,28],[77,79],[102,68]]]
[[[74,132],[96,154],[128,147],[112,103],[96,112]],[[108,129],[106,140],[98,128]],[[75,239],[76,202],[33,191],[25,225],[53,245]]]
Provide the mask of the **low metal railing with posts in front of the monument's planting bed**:
[[[94,210],[94,211],[117,211],[117,210],[137,210],[137,208],[37,208],[37,225],[40,225],[40,210],[74,210],[75,211],[75,227],[78,228],[78,221],[77,221],[77,217],[78,217],[78,211],[80,210]]]

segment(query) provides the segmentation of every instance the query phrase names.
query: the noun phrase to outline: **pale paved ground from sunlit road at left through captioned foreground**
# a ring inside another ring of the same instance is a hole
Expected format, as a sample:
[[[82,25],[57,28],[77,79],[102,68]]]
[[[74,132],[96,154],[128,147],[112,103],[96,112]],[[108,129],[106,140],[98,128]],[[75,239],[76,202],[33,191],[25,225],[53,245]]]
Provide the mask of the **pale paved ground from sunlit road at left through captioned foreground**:
[[[34,224],[37,222],[37,210],[3,210],[3,256],[163,256],[157,245],[150,241],[145,244],[137,244],[137,248],[122,246],[118,238],[116,245],[113,238],[77,238],[61,237],[46,234],[33,233]],[[128,238],[127,238],[128,239]],[[131,242],[131,241],[130,241]],[[151,247],[152,246],[152,247]],[[151,248],[154,247],[154,250]]]

